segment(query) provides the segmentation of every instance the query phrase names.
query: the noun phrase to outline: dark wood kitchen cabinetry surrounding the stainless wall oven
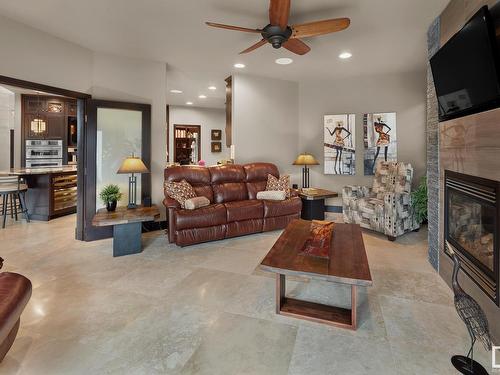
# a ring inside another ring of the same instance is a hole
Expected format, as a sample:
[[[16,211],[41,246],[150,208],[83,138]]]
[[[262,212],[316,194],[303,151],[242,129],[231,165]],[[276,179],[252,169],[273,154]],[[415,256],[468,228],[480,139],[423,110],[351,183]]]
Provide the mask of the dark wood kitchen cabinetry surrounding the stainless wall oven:
[[[76,154],[77,102],[74,99],[45,95],[22,95],[21,161],[26,162],[26,140],[60,139],[63,141],[63,164],[68,163],[68,146],[71,156]],[[40,119],[44,131],[33,131],[31,123]],[[70,157],[72,159],[72,157]],[[71,160],[70,160],[71,161]]]

